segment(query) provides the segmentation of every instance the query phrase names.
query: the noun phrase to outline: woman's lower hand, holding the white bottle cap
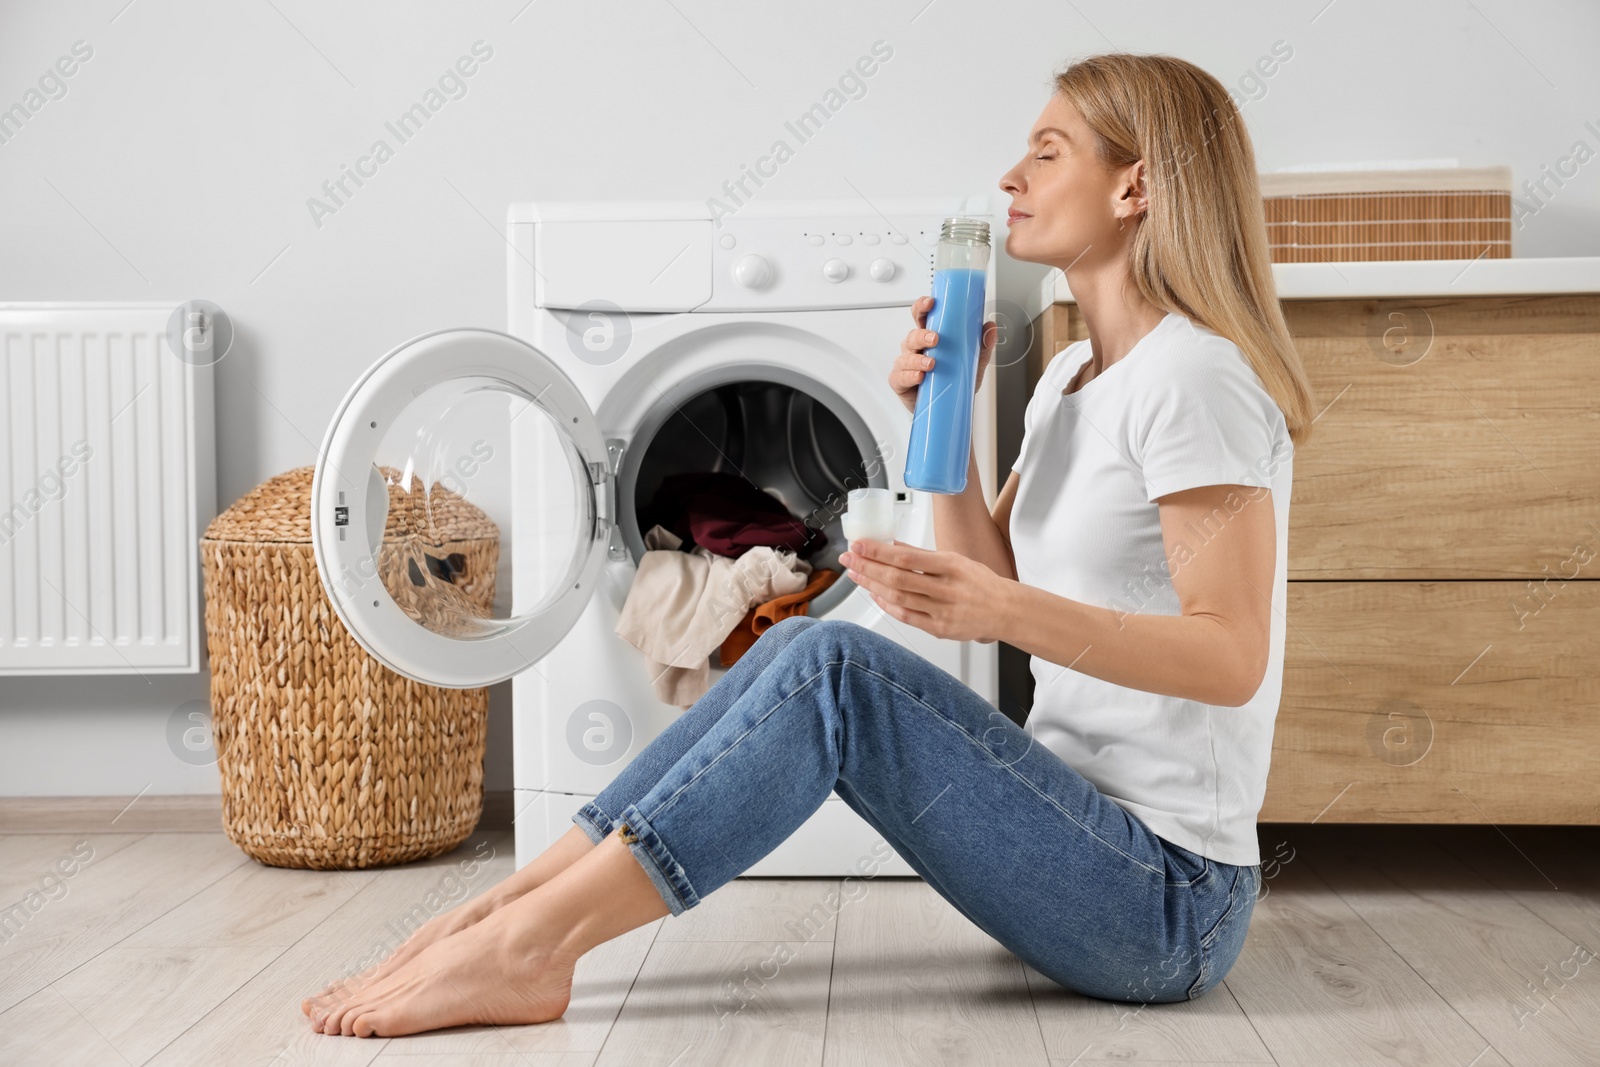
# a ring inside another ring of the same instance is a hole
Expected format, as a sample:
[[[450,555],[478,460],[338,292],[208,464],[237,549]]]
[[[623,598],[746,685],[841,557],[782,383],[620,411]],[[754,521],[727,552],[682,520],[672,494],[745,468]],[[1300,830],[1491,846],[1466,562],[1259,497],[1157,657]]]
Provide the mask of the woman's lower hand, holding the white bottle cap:
[[[954,641],[1000,637],[1011,582],[958,552],[930,552],[896,541],[853,541],[838,561],[883,611]]]

